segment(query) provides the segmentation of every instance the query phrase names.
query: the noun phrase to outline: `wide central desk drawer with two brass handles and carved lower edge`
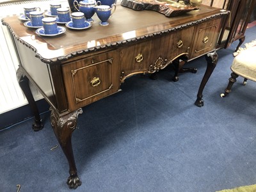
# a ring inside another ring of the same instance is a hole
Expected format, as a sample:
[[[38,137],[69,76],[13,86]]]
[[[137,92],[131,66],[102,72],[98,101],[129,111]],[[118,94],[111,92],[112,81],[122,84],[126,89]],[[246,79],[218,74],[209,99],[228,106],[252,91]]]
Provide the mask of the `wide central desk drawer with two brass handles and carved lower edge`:
[[[180,55],[188,54],[193,33],[194,26],[122,47],[120,49],[121,81],[132,74],[155,72],[166,67]]]

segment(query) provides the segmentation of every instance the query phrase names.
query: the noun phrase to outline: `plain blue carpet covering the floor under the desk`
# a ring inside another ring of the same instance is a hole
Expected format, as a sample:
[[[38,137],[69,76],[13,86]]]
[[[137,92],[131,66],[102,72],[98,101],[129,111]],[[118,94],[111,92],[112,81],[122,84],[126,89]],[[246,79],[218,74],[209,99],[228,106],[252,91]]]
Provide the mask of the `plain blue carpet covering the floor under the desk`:
[[[246,42],[256,38],[246,31]],[[83,108],[72,143],[82,186],[76,191],[218,191],[256,183],[256,83],[221,98],[238,42],[218,51],[219,62],[194,105],[205,58],[186,67],[196,74],[159,72],[156,81],[133,76],[122,92]],[[243,45],[242,45],[243,47]],[[49,120],[33,132],[33,119],[0,131],[0,191],[70,191],[68,163]]]

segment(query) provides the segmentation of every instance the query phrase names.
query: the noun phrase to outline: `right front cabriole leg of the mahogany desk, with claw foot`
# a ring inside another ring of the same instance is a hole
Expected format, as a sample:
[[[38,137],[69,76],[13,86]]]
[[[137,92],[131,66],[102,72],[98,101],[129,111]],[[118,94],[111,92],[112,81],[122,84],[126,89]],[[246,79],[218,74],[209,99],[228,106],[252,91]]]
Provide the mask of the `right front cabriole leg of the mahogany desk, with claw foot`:
[[[195,101],[195,105],[198,107],[204,106],[204,100],[202,99],[204,87],[209,78],[211,77],[211,74],[218,63],[218,54],[216,51],[210,52],[208,54],[205,54],[205,59],[207,61],[207,68],[205,70],[204,77],[198,89],[197,99]]]

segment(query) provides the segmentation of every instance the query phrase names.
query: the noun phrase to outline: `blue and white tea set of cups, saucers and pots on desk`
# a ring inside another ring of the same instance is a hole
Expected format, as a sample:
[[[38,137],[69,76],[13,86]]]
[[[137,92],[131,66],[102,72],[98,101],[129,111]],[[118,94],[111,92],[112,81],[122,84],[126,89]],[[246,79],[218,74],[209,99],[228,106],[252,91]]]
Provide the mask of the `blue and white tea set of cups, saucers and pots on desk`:
[[[115,0],[75,0],[73,4],[77,12],[71,14],[70,9],[62,8],[60,3],[51,3],[50,11],[45,13],[35,6],[24,7],[24,15],[20,15],[19,20],[24,22],[24,26],[36,29],[37,35],[56,36],[66,31],[58,24],[78,30],[90,28],[95,13],[100,19],[100,26],[108,26],[108,19],[116,10]]]

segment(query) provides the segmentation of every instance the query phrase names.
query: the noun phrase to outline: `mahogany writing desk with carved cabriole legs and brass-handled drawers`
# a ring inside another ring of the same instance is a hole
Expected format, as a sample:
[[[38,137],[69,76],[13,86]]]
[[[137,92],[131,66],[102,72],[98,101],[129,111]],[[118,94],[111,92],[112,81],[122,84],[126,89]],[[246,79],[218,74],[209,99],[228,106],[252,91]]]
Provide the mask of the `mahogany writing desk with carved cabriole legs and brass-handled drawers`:
[[[67,28],[52,37],[36,35],[17,16],[2,20],[17,51],[17,79],[35,114],[35,131],[43,125],[28,81],[51,105],[52,128],[69,163],[70,188],[81,185],[71,145],[81,108],[118,92],[127,77],[157,72],[180,57],[189,61],[205,54],[207,69],[195,101],[203,106],[202,92],[218,61],[216,42],[227,15],[202,5],[169,18],[118,5],[109,26],[99,26],[94,16],[91,28]]]

